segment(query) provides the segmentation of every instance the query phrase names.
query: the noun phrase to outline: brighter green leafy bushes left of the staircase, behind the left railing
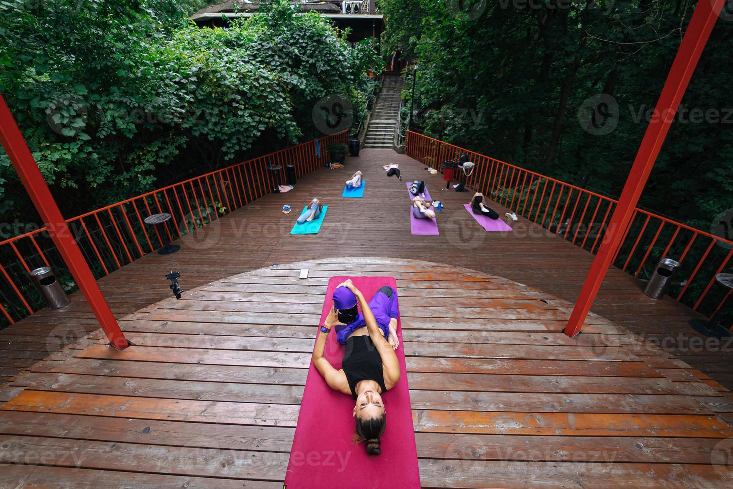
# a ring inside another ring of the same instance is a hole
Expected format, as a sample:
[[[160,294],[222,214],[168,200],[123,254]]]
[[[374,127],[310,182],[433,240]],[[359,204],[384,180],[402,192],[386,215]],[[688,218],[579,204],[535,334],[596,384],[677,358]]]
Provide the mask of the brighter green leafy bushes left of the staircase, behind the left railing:
[[[0,2],[0,92],[65,213],[317,137],[314,102],[336,93],[357,106],[371,89],[375,50],[314,12],[275,0],[199,29],[187,15],[201,6]],[[32,218],[1,152],[0,202],[3,220]]]

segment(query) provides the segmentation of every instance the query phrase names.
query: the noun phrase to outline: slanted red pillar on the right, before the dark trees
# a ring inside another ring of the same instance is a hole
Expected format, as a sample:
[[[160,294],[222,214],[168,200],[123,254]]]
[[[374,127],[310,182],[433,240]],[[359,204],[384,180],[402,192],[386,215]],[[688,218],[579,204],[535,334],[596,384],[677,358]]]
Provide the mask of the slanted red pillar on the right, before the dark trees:
[[[619,197],[619,204],[614,209],[600,250],[593,260],[581,294],[578,296],[578,302],[575,302],[570,320],[565,326],[565,334],[570,337],[577,335],[583,329],[583,322],[588,316],[598,289],[608,272],[608,267],[613,263],[614,254],[621,245],[624,231],[630,224],[641,191],[644,190],[644,185],[649,178],[649,172],[652,171],[652,166],[654,166],[669,126],[674,119],[674,114],[679,108],[682,95],[685,94],[690,77],[725,1],[699,0],[695,7],[690,25],[685,31],[685,36],[682,37],[677,56],[674,57],[674,62],[657,101],[655,116],[647,126],[647,132],[644,133],[624,190]]]

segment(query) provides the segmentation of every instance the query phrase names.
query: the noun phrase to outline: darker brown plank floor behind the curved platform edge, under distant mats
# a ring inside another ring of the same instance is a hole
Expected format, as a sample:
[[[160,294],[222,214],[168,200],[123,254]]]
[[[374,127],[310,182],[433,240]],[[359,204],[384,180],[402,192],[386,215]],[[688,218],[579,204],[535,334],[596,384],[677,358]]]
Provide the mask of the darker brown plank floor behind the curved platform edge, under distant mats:
[[[385,163],[399,163],[403,182],[386,176],[381,168]],[[369,182],[364,198],[341,198],[343,182],[357,168]],[[442,176],[430,175],[424,168],[391,150],[363,150],[359,157],[347,158],[345,170],[316,171],[300,179],[290,193],[267,195],[221,218],[205,230],[205,236],[179,240],[183,247],[179,253],[147,255],[104,277],[100,286],[114,313],[122,317],[170,296],[163,277],[171,269],[183,273],[184,288],[192,288],[272,264],[372,256],[464,266],[575,301],[592,255],[521,218],[509,234],[484,233],[463,209],[470,195],[441,190]],[[410,234],[407,179],[424,179],[432,197],[445,204],[438,215],[440,236]],[[330,204],[320,234],[289,234],[295,215],[282,214],[282,204],[298,209],[314,195]],[[507,210],[495,207],[501,215]],[[688,307],[668,297],[649,299],[641,294],[637,280],[611,269],[592,310],[663,346],[687,364],[679,365],[689,376],[719,391],[733,387],[733,343],[705,340],[692,332],[687,321],[699,315]],[[65,309],[39,311],[2,330],[0,384],[96,327],[84,298],[73,294]]]

